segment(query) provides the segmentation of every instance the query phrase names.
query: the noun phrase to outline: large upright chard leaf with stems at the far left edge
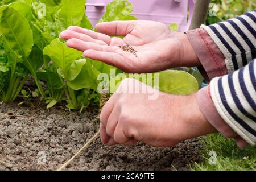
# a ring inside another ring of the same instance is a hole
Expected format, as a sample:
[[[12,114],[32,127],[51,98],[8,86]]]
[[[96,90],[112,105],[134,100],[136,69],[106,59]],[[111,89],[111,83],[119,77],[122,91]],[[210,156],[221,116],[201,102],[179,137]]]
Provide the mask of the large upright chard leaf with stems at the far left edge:
[[[15,88],[16,86],[14,72],[18,63],[21,63],[30,71],[40,94],[44,96],[42,85],[36,76],[36,71],[42,65],[42,62],[38,59],[38,56],[40,56],[38,55],[38,49],[33,47],[33,33],[28,20],[11,6],[2,6],[0,13],[0,34],[3,37],[2,44],[7,48],[9,68],[11,72],[13,72],[9,80],[9,88]],[[26,81],[26,78],[27,76],[24,77],[23,81]],[[16,80],[16,82],[18,82],[18,80]],[[23,85],[23,82],[20,85]],[[8,94],[10,94],[10,92],[8,92],[7,95]],[[14,94],[13,97],[6,97],[5,101],[13,101],[16,96],[17,95]]]

